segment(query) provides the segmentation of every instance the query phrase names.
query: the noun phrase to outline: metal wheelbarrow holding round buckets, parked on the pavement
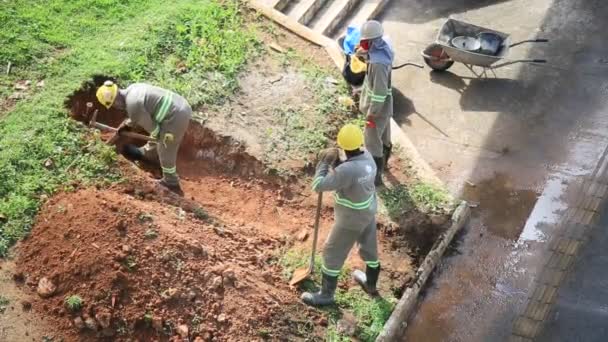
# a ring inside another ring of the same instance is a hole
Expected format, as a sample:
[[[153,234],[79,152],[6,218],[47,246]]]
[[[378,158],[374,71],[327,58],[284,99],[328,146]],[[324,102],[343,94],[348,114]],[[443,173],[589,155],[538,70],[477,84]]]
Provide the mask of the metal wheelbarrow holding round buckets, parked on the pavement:
[[[512,43],[509,34],[448,19],[434,43],[422,51],[424,62],[436,71],[449,69],[454,62],[464,64],[474,74],[473,67],[494,70],[517,63],[546,63],[544,59],[508,59],[511,48],[524,43],[546,43],[548,39],[528,39]],[[501,63],[498,63],[502,61]],[[478,75],[479,76],[479,75]]]

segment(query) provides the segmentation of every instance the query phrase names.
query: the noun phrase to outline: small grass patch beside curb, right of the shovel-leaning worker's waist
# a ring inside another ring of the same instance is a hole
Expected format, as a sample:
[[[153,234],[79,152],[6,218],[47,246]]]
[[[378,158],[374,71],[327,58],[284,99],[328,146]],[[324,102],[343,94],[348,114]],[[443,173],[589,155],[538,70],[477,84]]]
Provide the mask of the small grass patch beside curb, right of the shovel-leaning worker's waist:
[[[411,210],[445,214],[453,205],[446,190],[423,182],[385,188],[379,196],[392,219],[398,219]]]

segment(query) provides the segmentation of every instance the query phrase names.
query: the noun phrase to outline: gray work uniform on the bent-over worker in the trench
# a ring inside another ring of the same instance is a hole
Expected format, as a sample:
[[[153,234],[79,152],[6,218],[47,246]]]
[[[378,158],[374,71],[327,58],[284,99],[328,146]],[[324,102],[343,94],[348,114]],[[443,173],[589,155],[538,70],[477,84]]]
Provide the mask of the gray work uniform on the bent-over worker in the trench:
[[[157,143],[149,142],[142,148],[145,158],[158,158],[165,182],[179,184],[175,166],[177,152],[188,129],[192,108],[183,97],[144,83],[132,84],[124,95],[131,124],[142,127],[157,139]]]

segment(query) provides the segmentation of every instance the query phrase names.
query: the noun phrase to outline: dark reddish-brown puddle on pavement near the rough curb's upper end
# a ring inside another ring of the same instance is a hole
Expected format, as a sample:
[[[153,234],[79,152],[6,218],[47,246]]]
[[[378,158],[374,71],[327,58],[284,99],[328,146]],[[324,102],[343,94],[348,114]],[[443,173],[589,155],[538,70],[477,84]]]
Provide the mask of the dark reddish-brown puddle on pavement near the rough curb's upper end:
[[[496,173],[477,184],[466,184],[463,197],[478,204],[476,210],[489,232],[515,240],[522,232],[537,200],[534,190],[516,189],[508,176]]]

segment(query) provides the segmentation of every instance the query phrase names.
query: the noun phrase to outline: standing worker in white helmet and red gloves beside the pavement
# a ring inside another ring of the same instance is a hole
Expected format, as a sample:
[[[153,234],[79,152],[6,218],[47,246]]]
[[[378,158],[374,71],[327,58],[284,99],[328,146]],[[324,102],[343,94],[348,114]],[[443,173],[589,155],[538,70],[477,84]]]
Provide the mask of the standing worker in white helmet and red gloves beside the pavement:
[[[391,71],[394,53],[384,40],[382,25],[370,20],[361,28],[358,55],[367,60],[367,72],[359,109],[366,115],[365,148],[374,157],[378,168],[375,185],[382,185],[382,173],[388,165],[392,151],[391,118],[393,117],[393,96],[391,91]]]

